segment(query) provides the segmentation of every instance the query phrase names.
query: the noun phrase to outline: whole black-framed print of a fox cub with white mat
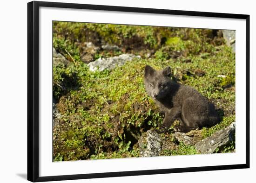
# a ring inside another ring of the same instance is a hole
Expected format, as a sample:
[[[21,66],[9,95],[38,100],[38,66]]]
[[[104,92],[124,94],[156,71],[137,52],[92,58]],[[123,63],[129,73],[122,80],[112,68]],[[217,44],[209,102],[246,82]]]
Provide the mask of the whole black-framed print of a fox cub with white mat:
[[[29,181],[249,168],[249,15],[27,7]]]

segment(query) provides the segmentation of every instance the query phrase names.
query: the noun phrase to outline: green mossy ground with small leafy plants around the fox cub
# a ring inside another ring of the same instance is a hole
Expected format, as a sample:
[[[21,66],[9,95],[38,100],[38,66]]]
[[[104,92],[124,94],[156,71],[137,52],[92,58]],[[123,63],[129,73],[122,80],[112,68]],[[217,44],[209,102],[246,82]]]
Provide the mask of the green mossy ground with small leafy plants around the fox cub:
[[[235,54],[215,30],[71,22],[53,26],[54,48],[71,63],[54,66],[53,95],[61,114],[53,129],[54,161],[139,156],[141,133],[157,128],[163,120],[144,89],[146,64],[155,69],[170,66],[176,82],[194,87],[215,104],[222,121],[191,131],[190,136],[200,140],[235,121]],[[93,73],[81,61],[85,41],[121,48],[99,49],[94,59],[121,53],[141,58]],[[171,128],[162,134],[173,147],[162,155],[196,153],[194,146],[176,142],[172,133]],[[233,143],[218,152],[234,148]]]

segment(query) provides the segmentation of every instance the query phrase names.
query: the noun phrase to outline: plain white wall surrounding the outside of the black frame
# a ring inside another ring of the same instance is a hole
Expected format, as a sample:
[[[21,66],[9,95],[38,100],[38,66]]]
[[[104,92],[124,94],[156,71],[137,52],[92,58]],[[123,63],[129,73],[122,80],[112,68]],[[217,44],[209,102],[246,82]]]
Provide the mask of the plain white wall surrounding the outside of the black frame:
[[[59,1],[59,0],[55,0]],[[250,14],[250,93],[255,92],[255,63],[256,56],[253,48],[256,46],[255,36],[252,34],[256,29],[256,13],[253,1],[243,0],[236,3],[233,1],[120,1],[120,0],[72,0],[62,2],[135,6],[162,9],[177,9],[189,11],[206,11],[220,13],[241,13]],[[1,3],[1,27],[0,27],[0,182],[25,182],[27,179],[27,2],[26,0],[9,1]],[[254,96],[250,96],[251,104],[256,102]],[[255,107],[251,105],[251,114]],[[252,121],[256,118],[251,115],[251,155],[255,152],[255,125]],[[136,177],[114,177],[104,179],[86,180],[88,183],[98,182],[197,182],[216,183],[224,182],[253,182],[256,171],[256,161],[251,156],[251,168],[243,170],[221,170],[208,172],[191,172],[164,175],[149,175]],[[209,178],[210,177],[210,178]],[[213,178],[216,177],[216,178]],[[61,181],[64,183],[64,181]],[[61,183],[60,182],[60,183]],[[85,182],[85,180],[65,181]]]

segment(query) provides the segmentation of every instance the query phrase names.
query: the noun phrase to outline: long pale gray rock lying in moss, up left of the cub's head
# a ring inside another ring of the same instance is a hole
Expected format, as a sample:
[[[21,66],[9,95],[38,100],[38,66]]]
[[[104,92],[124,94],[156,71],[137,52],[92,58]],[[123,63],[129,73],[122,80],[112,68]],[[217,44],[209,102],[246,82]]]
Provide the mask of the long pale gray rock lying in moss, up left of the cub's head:
[[[116,57],[109,57],[109,58],[98,58],[94,62],[88,63],[89,69],[91,71],[102,71],[104,69],[114,69],[116,66],[122,66],[128,61],[132,61],[135,58],[140,58],[141,56],[135,56],[133,54],[122,54]]]

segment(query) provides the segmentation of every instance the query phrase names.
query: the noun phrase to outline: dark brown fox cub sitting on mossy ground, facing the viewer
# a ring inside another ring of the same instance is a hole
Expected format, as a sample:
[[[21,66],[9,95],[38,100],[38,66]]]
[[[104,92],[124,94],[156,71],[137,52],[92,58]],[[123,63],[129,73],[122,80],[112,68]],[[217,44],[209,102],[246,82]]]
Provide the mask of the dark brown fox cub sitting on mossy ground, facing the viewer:
[[[174,128],[176,132],[216,125],[220,119],[214,105],[194,88],[173,82],[170,75],[170,67],[163,70],[145,67],[146,91],[165,113],[157,132],[165,133],[175,120],[181,121]]]

